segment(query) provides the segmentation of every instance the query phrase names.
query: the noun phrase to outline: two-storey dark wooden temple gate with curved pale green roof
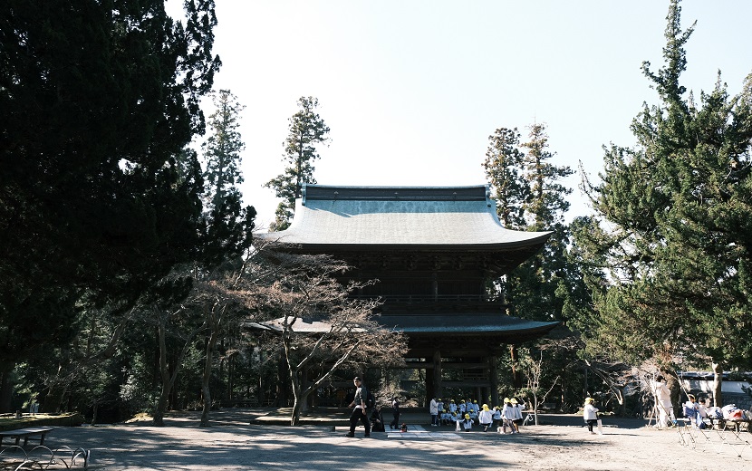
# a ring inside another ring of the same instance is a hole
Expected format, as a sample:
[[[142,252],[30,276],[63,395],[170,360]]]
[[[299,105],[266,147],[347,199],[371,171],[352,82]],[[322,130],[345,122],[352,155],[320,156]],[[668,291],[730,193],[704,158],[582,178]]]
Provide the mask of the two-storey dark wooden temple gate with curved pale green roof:
[[[352,279],[379,280],[353,295],[381,298],[379,322],[408,336],[407,368],[426,371],[429,398],[472,388],[497,404],[496,357],[556,325],[510,317],[487,294],[489,280],[548,238],[503,228],[487,187],[309,185],[293,225],[265,237],[345,260]]]

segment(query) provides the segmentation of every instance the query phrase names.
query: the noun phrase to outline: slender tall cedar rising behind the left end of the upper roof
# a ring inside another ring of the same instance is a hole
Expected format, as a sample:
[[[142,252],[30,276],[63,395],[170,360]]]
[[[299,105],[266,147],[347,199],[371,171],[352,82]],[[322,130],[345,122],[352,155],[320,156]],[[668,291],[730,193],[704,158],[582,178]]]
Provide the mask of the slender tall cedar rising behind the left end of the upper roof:
[[[284,172],[266,182],[265,187],[275,190],[282,202],[276,209],[273,230],[282,231],[290,226],[295,209],[295,199],[301,197],[304,183],[316,183],[313,162],[319,159],[316,146],[329,142],[329,126],[314,110],[319,101],[313,97],[300,97],[300,111],[289,122],[289,134],[284,140]]]

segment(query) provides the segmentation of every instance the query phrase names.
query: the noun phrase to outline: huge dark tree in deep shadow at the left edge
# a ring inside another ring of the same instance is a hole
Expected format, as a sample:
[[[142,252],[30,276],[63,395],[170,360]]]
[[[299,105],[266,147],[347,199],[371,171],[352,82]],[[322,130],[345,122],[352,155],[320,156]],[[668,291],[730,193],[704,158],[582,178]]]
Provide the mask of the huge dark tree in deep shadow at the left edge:
[[[219,60],[213,0],[186,12],[184,26],[162,0],[0,6],[4,366],[67,341],[85,306],[128,311],[196,253],[201,183],[177,156],[204,130]]]

